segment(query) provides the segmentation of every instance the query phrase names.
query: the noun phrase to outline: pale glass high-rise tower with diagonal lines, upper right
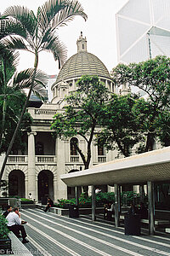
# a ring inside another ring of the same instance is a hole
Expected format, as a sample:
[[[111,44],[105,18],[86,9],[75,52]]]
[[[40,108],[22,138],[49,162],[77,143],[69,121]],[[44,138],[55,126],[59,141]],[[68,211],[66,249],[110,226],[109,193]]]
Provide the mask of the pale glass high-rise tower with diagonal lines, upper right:
[[[170,56],[169,13],[169,0],[129,0],[116,14],[118,62]]]

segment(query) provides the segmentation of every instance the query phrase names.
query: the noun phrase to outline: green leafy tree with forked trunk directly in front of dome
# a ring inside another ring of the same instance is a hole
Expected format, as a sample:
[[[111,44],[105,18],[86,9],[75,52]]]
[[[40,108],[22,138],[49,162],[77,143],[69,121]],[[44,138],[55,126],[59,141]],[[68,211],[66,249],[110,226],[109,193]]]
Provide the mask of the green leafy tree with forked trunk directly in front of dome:
[[[81,144],[74,144],[85,169],[90,164],[95,129],[99,127],[100,115],[103,114],[108,96],[105,84],[98,77],[82,76],[77,81],[77,91],[65,98],[68,105],[64,112],[54,115],[51,129],[55,137],[64,139],[78,135],[85,140],[86,152],[82,150]]]

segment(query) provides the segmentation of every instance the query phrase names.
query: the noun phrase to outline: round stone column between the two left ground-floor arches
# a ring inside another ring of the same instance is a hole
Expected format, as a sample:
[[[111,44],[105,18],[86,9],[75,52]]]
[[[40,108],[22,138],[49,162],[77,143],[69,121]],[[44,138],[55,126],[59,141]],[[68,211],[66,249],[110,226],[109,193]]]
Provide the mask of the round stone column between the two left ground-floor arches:
[[[36,178],[36,159],[35,159],[35,136],[36,132],[28,133],[28,195],[37,201],[37,178]]]

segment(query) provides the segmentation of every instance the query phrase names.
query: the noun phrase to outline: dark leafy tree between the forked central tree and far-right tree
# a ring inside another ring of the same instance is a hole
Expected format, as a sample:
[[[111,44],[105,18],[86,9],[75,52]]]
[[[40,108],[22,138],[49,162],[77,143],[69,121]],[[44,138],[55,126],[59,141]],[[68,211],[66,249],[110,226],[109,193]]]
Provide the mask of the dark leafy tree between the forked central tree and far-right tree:
[[[100,125],[105,127],[99,132],[98,140],[107,150],[118,149],[125,157],[131,149],[143,139],[139,122],[133,113],[137,96],[111,96],[105,105],[105,113],[100,116]]]

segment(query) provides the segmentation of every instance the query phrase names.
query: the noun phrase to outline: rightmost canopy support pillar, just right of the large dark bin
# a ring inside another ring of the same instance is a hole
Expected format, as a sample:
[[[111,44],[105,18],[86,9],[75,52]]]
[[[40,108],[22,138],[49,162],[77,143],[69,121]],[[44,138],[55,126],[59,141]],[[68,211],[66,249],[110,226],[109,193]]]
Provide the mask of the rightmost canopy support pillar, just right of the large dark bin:
[[[149,232],[150,235],[154,235],[155,233],[155,214],[154,214],[154,183],[147,182],[148,187],[148,203],[149,203]]]

